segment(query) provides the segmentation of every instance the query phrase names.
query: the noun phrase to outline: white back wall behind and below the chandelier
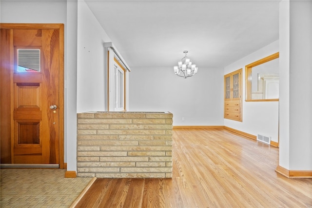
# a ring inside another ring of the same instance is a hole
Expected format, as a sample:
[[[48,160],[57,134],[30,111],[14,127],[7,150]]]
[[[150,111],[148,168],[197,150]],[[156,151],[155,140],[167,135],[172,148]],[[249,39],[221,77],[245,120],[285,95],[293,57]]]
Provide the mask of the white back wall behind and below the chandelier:
[[[223,125],[222,69],[198,66],[184,79],[173,66],[132,67],[129,79],[129,111],[170,111],[173,125]]]

